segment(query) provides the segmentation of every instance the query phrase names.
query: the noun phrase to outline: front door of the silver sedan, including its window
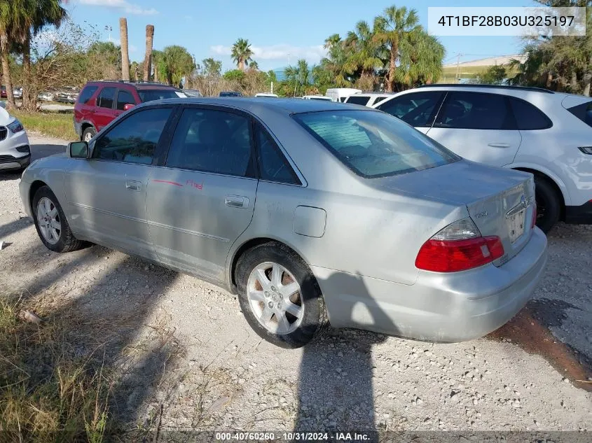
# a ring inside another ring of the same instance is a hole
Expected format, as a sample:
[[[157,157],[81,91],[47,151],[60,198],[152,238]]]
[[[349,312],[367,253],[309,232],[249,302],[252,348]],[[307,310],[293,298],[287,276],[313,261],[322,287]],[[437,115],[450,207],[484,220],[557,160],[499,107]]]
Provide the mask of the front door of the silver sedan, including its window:
[[[146,224],[146,188],[173,106],[139,109],[93,141],[90,159],[65,174],[73,232],[98,244],[155,258]]]

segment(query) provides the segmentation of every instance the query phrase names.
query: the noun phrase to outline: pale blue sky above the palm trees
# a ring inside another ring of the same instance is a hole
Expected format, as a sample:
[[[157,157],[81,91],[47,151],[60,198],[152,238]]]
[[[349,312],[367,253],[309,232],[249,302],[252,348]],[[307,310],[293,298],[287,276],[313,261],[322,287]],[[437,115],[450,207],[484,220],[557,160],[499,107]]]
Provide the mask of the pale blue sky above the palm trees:
[[[532,6],[532,0],[69,0],[65,5],[78,24],[88,22],[101,37],[119,44],[119,17],[128,19],[130,59],[144,59],[146,24],[153,24],[154,48],[182,45],[198,63],[207,57],[233,69],[230,46],[247,38],[259,69],[268,71],[305,58],[324,56],[331,34],[344,37],[359,20],[370,24],[387,6],[418,11],[427,28],[429,6]],[[111,27],[112,31],[104,30]],[[110,36],[109,36],[110,34]],[[444,64],[521,52],[518,37],[439,37],[446,48]],[[457,57],[458,55],[462,55]]]

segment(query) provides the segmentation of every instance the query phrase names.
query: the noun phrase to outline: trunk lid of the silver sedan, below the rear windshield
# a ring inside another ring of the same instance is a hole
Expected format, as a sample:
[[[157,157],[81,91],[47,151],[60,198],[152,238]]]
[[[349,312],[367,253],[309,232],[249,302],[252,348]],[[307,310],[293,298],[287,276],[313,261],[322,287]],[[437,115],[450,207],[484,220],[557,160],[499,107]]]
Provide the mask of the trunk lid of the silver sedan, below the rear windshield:
[[[461,160],[380,178],[373,185],[466,206],[483,237],[500,237],[504,255],[493,262],[496,266],[514,257],[532,234],[535,211],[532,174]]]

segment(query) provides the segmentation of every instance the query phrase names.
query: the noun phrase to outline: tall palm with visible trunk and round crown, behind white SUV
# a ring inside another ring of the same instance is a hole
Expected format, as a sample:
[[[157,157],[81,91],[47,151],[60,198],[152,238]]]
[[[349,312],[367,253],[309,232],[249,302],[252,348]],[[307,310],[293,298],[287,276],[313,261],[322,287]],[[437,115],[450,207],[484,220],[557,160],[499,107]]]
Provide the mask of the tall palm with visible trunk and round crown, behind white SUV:
[[[397,8],[390,6],[385,9],[384,15],[374,19],[374,32],[376,41],[383,43],[388,52],[388,73],[385,80],[387,91],[392,92],[399,59],[399,44],[408,34],[420,27],[418,12],[415,9],[408,10],[405,6]]]

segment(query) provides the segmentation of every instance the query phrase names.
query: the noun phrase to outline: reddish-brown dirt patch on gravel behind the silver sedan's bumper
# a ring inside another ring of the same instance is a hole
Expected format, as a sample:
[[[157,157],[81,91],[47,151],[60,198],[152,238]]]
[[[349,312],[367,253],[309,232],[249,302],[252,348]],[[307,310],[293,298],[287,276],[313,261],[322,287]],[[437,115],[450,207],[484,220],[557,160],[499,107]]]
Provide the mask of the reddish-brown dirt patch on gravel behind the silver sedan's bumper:
[[[580,353],[551,334],[551,328],[563,325],[567,309],[580,310],[562,300],[530,300],[511,321],[488,338],[510,340],[528,353],[539,354],[574,386],[592,391],[592,356]]]

